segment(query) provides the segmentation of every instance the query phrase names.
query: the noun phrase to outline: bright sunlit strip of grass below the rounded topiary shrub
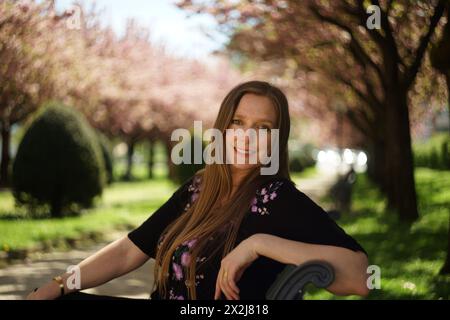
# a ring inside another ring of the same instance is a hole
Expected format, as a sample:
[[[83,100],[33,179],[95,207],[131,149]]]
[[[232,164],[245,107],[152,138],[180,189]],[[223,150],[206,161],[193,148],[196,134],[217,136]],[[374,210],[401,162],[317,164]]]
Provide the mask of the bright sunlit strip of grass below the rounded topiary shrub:
[[[77,239],[95,232],[108,232],[119,226],[137,226],[166,201],[175,185],[164,179],[119,182],[107,188],[97,207],[80,217],[63,219],[0,218],[0,249],[33,248],[58,239]],[[9,192],[0,193],[0,217],[10,216],[14,201]]]

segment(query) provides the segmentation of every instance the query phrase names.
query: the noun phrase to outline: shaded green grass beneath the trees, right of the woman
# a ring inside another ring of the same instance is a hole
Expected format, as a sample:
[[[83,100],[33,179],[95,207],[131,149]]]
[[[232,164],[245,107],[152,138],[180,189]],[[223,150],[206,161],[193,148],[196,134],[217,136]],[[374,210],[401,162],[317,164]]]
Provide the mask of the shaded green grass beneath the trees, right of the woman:
[[[415,177],[420,219],[411,227],[386,212],[385,199],[363,175],[355,185],[353,214],[339,220],[367,250],[369,263],[381,268],[381,289],[368,299],[450,298],[450,277],[438,275],[447,250],[450,171],[419,168]],[[305,298],[342,299],[324,290]]]

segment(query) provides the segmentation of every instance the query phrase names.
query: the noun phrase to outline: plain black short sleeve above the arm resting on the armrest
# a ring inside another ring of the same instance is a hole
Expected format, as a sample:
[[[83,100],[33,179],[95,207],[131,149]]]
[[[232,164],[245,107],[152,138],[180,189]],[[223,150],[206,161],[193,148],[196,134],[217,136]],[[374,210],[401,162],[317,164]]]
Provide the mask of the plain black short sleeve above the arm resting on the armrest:
[[[270,225],[271,233],[300,242],[362,251],[367,255],[355,239],[291,181],[284,180],[280,184],[279,189],[275,194],[272,193],[267,202],[266,223]]]

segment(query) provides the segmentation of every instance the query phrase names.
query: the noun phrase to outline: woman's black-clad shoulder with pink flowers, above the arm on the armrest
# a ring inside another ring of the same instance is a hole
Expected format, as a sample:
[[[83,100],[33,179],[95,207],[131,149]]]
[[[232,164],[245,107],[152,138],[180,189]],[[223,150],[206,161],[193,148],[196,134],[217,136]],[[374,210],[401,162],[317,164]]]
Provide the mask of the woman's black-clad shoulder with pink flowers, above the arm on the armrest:
[[[289,179],[265,183],[256,192],[246,235],[269,233],[295,241],[364,249],[328,213]]]

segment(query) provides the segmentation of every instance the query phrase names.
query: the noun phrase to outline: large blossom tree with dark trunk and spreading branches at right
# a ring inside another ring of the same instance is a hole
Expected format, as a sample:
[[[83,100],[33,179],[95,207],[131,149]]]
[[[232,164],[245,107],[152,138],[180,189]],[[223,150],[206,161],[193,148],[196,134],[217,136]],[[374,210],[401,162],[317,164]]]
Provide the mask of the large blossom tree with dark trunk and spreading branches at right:
[[[377,160],[383,188],[389,206],[406,221],[418,217],[409,94],[442,29],[444,3],[179,1],[187,10],[214,15],[231,37],[229,51],[241,60],[281,60],[287,69],[344,86],[359,100],[347,108],[349,117],[368,120],[376,130],[374,153],[388,155]]]

